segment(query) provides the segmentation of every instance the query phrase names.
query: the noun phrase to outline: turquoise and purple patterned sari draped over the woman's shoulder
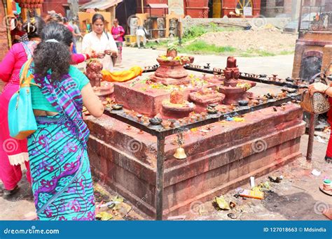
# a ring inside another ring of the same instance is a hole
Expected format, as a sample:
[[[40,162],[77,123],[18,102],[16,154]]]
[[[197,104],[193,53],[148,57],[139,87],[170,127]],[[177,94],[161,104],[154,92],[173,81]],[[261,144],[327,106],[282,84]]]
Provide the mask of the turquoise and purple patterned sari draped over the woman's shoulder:
[[[94,220],[90,163],[83,122],[81,92],[70,75],[50,82],[50,75],[35,81],[57,109],[55,117],[36,117],[38,130],[28,139],[32,190],[41,220]]]

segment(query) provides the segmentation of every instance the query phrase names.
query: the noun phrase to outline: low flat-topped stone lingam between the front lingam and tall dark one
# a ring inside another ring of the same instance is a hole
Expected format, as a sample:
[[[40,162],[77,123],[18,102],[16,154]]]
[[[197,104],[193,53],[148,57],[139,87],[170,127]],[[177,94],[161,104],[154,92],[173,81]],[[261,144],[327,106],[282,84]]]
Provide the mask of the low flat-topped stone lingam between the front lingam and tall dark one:
[[[196,105],[196,112],[205,112],[207,106],[213,103],[222,103],[225,95],[214,89],[202,87],[198,92],[191,92],[189,99]]]

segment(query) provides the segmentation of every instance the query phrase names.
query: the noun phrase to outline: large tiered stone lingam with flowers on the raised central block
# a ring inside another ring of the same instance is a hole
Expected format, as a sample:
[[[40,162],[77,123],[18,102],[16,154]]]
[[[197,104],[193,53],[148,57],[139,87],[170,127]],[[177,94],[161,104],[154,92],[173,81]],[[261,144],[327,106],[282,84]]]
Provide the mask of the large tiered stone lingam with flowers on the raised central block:
[[[150,76],[151,81],[164,85],[186,85],[191,82],[184,65],[193,63],[194,57],[178,56],[177,50],[172,50],[158,57],[157,61],[160,67]]]

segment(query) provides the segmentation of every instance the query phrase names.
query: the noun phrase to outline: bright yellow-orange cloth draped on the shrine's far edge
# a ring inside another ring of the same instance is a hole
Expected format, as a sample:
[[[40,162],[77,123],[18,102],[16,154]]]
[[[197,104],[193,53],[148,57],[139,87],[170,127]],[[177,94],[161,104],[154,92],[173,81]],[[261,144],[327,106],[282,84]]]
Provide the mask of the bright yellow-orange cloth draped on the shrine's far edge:
[[[139,66],[134,66],[127,71],[110,72],[102,70],[102,79],[109,82],[125,82],[132,80],[143,73],[143,69]]]

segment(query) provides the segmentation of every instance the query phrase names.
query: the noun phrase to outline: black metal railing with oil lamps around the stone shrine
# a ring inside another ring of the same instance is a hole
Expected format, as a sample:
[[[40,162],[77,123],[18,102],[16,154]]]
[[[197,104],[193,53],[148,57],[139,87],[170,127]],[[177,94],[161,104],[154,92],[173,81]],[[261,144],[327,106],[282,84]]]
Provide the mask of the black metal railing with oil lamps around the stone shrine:
[[[188,68],[188,66],[186,66]],[[146,72],[155,71],[158,66],[151,66],[146,67]],[[221,73],[219,69],[209,70],[204,69],[204,67],[200,66],[199,68],[191,68],[192,71],[200,71],[200,72],[206,72],[206,73]],[[258,78],[251,77],[249,73],[242,73],[242,78],[245,80],[252,80],[256,82],[261,82],[263,84],[273,84],[277,85],[279,87],[285,86],[280,85],[282,82],[275,82],[273,80],[260,80]],[[298,88],[298,85],[292,85],[290,83],[285,83],[286,86],[291,86],[292,88]],[[207,124],[212,124],[215,122],[219,122],[223,119],[227,119],[227,117],[233,117],[236,115],[244,115],[246,113],[251,113],[256,110],[261,110],[263,108],[268,108],[271,106],[280,106],[283,103],[287,103],[289,101],[293,101],[299,96],[298,93],[289,94],[284,99],[270,99],[266,103],[258,104],[258,106],[242,106],[238,107],[235,110],[233,110],[230,113],[215,113],[215,114],[209,114],[205,119],[197,119],[195,122],[190,122],[186,125],[180,125],[179,122],[174,124],[174,128],[171,129],[164,129],[161,125],[159,126],[152,126],[150,124],[146,125],[143,122],[139,122],[138,119],[132,117],[131,115],[125,113],[124,110],[113,110],[111,108],[106,108],[105,114],[109,115],[110,117],[113,117],[114,119],[118,119],[121,122],[124,122],[125,124],[129,124],[130,126],[134,126],[137,129],[140,129],[141,131],[145,131],[146,133],[150,133],[153,136],[157,137],[157,172],[156,172],[156,198],[155,198],[155,210],[156,210],[156,219],[162,220],[163,216],[163,190],[164,190],[164,162],[165,162],[165,137],[171,136],[182,129],[184,127],[186,130],[197,128],[200,126],[205,126]]]

